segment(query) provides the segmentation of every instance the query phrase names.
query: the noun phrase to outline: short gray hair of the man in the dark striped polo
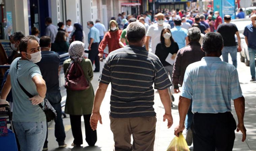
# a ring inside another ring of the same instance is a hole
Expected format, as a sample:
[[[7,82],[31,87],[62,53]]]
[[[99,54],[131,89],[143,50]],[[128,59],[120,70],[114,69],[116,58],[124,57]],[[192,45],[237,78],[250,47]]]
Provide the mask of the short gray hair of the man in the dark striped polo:
[[[129,42],[139,42],[145,35],[146,28],[141,22],[131,22],[127,26],[126,36]]]

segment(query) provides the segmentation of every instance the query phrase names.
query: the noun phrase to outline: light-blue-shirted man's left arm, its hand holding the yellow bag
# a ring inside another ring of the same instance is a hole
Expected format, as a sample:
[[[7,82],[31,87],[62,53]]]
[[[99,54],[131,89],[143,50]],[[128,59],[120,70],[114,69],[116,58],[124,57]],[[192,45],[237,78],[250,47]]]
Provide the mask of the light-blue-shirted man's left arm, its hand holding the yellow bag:
[[[180,115],[180,122],[179,125],[174,130],[174,135],[179,137],[179,133],[185,129],[185,118],[188,113],[188,109],[190,106],[190,99],[180,96],[179,98],[179,115]]]

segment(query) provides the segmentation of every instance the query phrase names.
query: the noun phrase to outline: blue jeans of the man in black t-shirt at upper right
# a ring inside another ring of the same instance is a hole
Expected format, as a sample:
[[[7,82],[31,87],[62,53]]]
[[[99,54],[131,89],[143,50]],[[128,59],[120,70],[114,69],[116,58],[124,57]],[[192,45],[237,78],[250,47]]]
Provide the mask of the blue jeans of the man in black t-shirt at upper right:
[[[237,46],[230,46],[230,47],[223,47],[222,50],[222,59],[225,62],[228,62],[228,53],[230,53],[230,56],[232,58],[233,65],[235,68],[237,67]]]

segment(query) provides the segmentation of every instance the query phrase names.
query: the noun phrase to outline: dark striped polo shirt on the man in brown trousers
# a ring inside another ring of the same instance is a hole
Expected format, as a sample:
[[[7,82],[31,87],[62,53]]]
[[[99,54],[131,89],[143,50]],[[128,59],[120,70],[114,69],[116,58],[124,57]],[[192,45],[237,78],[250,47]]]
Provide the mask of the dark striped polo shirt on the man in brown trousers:
[[[155,116],[153,84],[159,90],[171,86],[155,54],[129,45],[109,53],[99,81],[111,82],[110,116],[114,118]]]

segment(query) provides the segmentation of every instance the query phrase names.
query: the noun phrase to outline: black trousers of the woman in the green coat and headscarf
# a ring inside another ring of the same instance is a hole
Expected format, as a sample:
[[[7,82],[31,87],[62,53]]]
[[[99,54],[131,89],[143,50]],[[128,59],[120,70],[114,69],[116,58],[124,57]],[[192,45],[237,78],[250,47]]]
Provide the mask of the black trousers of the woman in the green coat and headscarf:
[[[97,132],[93,131],[90,125],[91,114],[83,115],[85,121],[85,140],[89,146],[94,146],[97,141]],[[75,145],[83,144],[83,135],[81,130],[81,115],[70,115],[71,130]]]

